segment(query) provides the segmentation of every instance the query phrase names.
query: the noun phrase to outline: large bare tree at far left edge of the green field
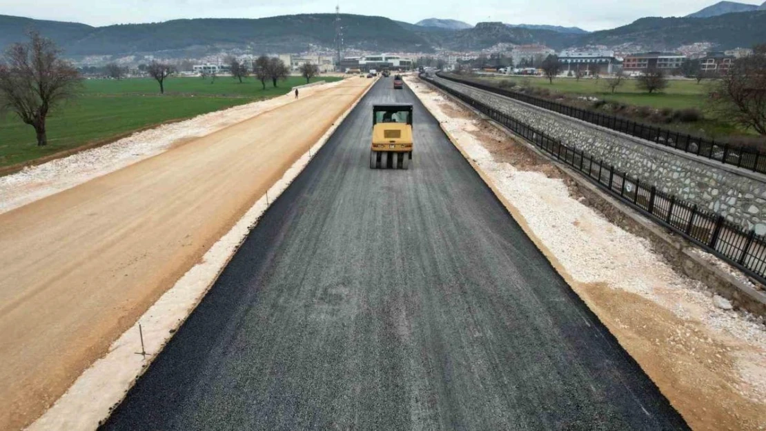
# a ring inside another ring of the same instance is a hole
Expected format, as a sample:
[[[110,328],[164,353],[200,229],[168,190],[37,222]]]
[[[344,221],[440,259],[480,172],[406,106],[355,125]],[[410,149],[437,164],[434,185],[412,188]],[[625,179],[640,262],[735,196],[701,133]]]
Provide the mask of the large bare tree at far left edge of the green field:
[[[81,77],[59,56],[61,50],[36,31],[25,44],[13,44],[0,63],[0,112],[16,113],[37,133],[38,146],[47,145],[48,113],[73,98]]]

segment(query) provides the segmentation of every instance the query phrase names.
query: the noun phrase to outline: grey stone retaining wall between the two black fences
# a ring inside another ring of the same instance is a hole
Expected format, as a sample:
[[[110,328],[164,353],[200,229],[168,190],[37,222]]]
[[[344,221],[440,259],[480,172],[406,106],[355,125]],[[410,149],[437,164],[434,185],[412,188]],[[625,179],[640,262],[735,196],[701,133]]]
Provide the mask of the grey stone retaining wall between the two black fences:
[[[439,83],[500,110],[658,190],[766,234],[766,175],[723,165],[450,80]]]

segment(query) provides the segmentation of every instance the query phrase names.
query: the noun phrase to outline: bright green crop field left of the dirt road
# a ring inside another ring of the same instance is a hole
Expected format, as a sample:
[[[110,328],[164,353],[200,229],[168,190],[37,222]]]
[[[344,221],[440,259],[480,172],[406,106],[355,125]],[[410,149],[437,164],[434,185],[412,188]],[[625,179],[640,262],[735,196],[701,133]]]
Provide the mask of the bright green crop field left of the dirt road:
[[[316,80],[333,81],[336,77]],[[303,85],[303,77],[279,81],[278,87],[248,78],[244,83],[218,77],[214,83],[198,77],[165,80],[165,95],[152,79],[84,80],[76,100],[48,116],[48,145],[38,147],[34,129],[15,114],[0,117],[0,167],[28,162],[93,142],[108,142],[133,130],[186,119],[218,109],[280,96]]]

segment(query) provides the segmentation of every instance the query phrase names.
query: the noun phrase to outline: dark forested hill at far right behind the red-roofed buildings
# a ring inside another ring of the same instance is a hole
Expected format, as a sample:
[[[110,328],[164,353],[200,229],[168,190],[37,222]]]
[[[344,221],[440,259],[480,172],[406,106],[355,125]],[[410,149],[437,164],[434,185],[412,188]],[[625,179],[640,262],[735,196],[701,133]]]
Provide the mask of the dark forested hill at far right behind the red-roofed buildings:
[[[581,36],[577,44],[617,46],[639,44],[650,50],[674,50],[696,42],[716,49],[751,47],[766,41],[766,11],[725,14],[712,18],[640,18],[612,30]]]

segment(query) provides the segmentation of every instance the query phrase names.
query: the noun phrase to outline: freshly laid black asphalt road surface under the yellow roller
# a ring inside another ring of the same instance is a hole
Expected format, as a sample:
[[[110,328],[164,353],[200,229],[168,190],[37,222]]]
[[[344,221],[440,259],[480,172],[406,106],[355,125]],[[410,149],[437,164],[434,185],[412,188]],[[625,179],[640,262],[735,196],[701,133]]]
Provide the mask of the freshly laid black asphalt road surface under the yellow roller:
[[[372,103],[414,165],[371,170]],[[103,429],[686,429],[406,87],[381,80]]]

